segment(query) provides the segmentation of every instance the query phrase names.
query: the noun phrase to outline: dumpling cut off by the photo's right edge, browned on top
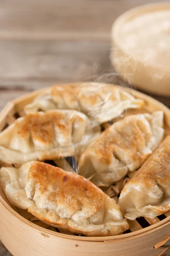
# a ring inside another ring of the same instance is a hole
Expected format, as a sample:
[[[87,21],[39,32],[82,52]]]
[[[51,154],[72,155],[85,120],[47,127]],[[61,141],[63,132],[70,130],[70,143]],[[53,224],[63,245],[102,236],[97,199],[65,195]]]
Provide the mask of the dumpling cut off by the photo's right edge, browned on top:
[[[130,220],[170,211],[170,136],[125,185],[119,205]]]

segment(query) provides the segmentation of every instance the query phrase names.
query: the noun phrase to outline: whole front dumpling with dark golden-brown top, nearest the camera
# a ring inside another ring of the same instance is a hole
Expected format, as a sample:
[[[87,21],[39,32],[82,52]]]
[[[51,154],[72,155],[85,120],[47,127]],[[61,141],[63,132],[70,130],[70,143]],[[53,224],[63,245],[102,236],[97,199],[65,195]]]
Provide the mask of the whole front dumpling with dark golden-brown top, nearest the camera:
[[[0,182],[8,200],[54,227],[86,236],[117,235],[128,229],[119,205],[73,172],[32,161],[3,167]]]

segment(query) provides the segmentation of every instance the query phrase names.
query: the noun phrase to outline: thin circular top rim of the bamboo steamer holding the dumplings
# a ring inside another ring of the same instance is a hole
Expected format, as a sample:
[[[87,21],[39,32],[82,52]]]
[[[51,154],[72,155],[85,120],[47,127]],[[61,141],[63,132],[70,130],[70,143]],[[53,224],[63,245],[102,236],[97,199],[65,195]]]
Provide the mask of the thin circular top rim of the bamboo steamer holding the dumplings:
[[[66,83],[66,84],[57,84],[60,86],[75,86],[78,84],[91,84],[91,82],[78,82],[78,83]],[[95,82],[96,83],[96,82]],[[99,84],[107,84],[107,83],[99,83]],[[133,96],[139,98],[139,99],[144,99],[147,102],[150,102],[153,105],[156,105],[157,107],[159,107],[160,109],[164,109],[164,113],[168,116],[168,120],[170,123],[170,109],[167,108],[164,104],[162,104],[161,102],[157,101],[156,99],[153,99],[150,96],[147,96],[144,93],[138,92],[136,90],[133,90],[131,88],[127,88],[127,87],[122,87],[119,85],[115,85],[115,84],[108,84],[114,87],[117,87],[119,89],[123,89],[125,91],[127,91],[128,93],[132,94]],[[56,86],[56,85],[54,85]],[[3,110],[0,112],[0,123],[2,122],[4,115],[6,114],[6,108],[14,108],[17,107],[17,104],[20,104],[21,102],[23,102],[24,100],[28,99],[28,98],[35,98],[36,96],[38,96],[40,93],[45,93],[48,92],[51,88],[53,88],[54,86],[51,87],[46,87],[44,89],[41,90],[36,90],[32,93],[28,93],[24,96],[20,96],[17,99],[12,100],[11,102],[8,102],[7,105],[3,108]],[[72,235],[67,235],[67,234],[62,234],[62,233],[57,233],[54,232],[52,230],[48,230],[45,229],[43,227],[37,226],[36,224],[32,223],[31,221],[28,221],[26,218],[24,218],[23,216],[21,216],[19,213],[15,212],[14,209],[12,209],[8,203],[3,199],[3,197],[0,195],[0,204],[3,205],[3,207],[5,207],[6,209],[8,209],[8,211],[11,212],[11,214],[15,215],[17,218],[20,219],[20,221],[22,221],[24,224],[27,224],[29,226],[31,226],[34,229],[37,229],[43,233],[48,233],[52,236],[59,236],[61,238],[64,239],[72,239],[72,240],[79,240],[79,241],[93,241],[93,242],[112,242],[112,241],[119,241],[119,240],[125,240],[128,241],[131,237],[139,237],[139,236],[144,236],[146,234],[152,233],[154,232],[154,230],[159,229],[160,227],[166,227],[168,225],[170,225],[170,216],[166,217],[164,220],[161,220],[155,224],[152,224],[149,227],[145,227],[141,230],[137,230],[137,231],[133,231],[131,233],[127,233],[127,234],[122,234],[122,235],[116,235],[116,236],[102,236],[102,237],[84,237],[84,236],[72,236]]]

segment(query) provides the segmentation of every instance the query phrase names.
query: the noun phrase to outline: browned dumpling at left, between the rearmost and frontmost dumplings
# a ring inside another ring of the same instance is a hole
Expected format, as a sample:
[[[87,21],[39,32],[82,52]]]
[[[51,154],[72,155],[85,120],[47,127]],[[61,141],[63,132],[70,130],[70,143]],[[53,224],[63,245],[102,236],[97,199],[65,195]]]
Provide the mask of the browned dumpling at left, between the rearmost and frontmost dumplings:
[[[81,154],[100,133],[101,128],[78,111],[30,113],[0,133],[0,160],[22,164]]]

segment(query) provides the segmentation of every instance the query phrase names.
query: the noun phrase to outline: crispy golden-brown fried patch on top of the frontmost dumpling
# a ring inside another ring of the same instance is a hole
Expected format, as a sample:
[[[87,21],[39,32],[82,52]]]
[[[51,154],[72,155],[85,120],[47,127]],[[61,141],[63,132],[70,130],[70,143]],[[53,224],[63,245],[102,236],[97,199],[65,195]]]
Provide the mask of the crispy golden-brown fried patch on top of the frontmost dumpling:
[[[73,172],[64,172],[58,167],[35,162],[29,169],[28,179],[39,184],[40,194],[48,193],[48,201],[55,201],[57,198],[55,203],[59,202],[71,212],[77,212],[83,205],[89,208],[88,214],[91,215],[103,207],[102,190]],[[52,192],[48,191],[49,186],[54,188]]]

